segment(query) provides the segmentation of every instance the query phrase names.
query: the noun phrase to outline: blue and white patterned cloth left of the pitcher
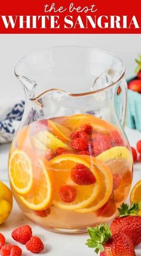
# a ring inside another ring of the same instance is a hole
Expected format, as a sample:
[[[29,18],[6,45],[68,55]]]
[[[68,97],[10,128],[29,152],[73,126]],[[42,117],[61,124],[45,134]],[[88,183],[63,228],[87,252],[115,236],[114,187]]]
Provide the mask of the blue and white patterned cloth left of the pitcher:
[[[0,108],[0,144],[11,142],[19,127],[24,111],[24,101]]]

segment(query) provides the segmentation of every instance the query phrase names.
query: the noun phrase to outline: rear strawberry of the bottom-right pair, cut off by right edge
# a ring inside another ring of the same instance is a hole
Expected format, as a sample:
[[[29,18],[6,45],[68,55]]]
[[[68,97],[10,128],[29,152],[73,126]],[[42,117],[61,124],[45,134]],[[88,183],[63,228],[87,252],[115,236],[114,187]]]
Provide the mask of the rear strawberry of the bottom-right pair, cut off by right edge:
[[[139,245],[141,243],[141,217],[138,216],[139,204],[132,203],[128,207],[128,204],[123,203],[118,210],[119,216],[111,224],[112,234],[122,232],[130,237],[134,246]]]

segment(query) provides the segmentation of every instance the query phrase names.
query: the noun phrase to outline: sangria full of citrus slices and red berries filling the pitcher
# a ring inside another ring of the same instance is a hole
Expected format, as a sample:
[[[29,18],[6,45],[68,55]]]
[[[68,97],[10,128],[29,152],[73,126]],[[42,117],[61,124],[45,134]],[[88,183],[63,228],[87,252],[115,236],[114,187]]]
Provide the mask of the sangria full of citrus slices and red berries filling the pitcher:
[[[90,114],[38,120],[17,132],[9,175],[20,209],[48,230],[108,222],[128,196],[133,162],[113,124]]]

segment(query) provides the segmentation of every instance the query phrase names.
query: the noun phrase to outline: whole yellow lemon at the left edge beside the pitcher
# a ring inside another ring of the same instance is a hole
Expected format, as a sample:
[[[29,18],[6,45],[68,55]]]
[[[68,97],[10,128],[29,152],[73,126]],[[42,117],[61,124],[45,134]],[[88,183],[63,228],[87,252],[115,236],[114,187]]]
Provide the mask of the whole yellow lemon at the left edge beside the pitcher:
[[[0,181],[0,224],[10,215],[13,207],[13,195],[9,187]]]

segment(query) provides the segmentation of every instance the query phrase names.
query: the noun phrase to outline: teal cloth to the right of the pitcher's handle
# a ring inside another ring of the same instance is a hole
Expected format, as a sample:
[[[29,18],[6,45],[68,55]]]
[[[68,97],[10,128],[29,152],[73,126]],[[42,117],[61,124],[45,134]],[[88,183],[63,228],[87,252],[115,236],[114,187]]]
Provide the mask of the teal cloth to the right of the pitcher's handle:
[[[128,90],[127,126],[141,132],[141,94]]]

